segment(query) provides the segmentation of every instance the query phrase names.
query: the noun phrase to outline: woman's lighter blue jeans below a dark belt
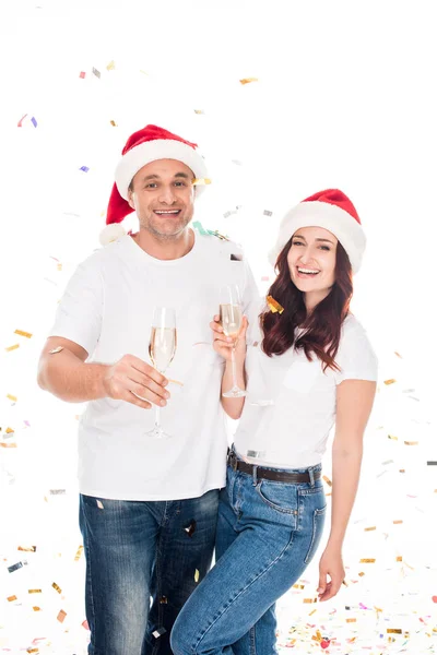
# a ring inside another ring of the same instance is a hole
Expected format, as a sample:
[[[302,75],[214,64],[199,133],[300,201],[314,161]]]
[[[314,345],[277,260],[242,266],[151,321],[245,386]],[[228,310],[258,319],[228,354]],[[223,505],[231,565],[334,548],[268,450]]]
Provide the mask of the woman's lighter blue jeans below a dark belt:
[[[228,466],[217,561],[178,616],[170,639],[175,655],[275,654],[275,602],[312,559],[326,507],[321,479],[273,483]]]

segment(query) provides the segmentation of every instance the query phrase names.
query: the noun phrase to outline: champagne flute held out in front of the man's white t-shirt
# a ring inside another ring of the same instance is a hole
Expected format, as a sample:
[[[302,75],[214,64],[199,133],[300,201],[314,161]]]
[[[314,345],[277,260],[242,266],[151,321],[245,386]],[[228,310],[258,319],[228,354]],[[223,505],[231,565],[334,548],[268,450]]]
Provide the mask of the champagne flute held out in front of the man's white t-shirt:
[[[176,317],[172,307],[155,307],[152,318],[152,330],[149,343],[149,355],[154,368],[163,373],[170,365],[176,353]],[[154,439],[170,437],[161,426],[160,405],[155,405],[155,425],[146,432]]]

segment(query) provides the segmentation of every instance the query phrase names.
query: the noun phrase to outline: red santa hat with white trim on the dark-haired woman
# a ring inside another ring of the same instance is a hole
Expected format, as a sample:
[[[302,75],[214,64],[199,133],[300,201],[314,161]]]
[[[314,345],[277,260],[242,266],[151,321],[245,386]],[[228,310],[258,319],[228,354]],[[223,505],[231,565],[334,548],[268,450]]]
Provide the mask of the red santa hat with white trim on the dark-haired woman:
[[[366,237],[359,216],[351,200],[339,189],[326,189],[293,207],[280,225],[269,261],[275,265],[277,255],[299,227],[323,227],[332,233],[347,252],[353,273],[359,270],[366,248]]]

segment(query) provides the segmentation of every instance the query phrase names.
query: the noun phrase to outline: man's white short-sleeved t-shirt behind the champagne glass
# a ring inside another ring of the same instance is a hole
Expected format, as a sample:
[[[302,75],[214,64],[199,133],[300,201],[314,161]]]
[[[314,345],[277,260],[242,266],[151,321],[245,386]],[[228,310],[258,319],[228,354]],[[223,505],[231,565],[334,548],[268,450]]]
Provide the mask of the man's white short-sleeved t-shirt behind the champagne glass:
[[[241,249],[196,233],[192,250],[176,260],[150,257],[130,237],[95,251],[79,265],[60,301],[50,336],[81,345],[87,361],[114,364],[123,355],[150,362],[154,306],[176,310],[177,349],[165,374],[172,397],[161,422],[172,438],[147,437],[155,410],[123,401],[91,401],[79,427],[79,488],[121,500],[197,498],[225,485],[227,433],[221,406],[223,358],[209,323],[220,287],[237,284],[243,307],[259,294]]]

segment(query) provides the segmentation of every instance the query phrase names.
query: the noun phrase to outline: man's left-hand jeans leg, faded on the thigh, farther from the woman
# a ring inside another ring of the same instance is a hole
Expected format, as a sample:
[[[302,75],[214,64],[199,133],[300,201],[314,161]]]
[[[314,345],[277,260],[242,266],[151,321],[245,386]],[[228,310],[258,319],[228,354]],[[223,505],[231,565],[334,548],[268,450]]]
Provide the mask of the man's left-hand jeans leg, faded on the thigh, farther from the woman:
[[[153,503],[80,497],[90,655],[142,655],[158,521]]]

